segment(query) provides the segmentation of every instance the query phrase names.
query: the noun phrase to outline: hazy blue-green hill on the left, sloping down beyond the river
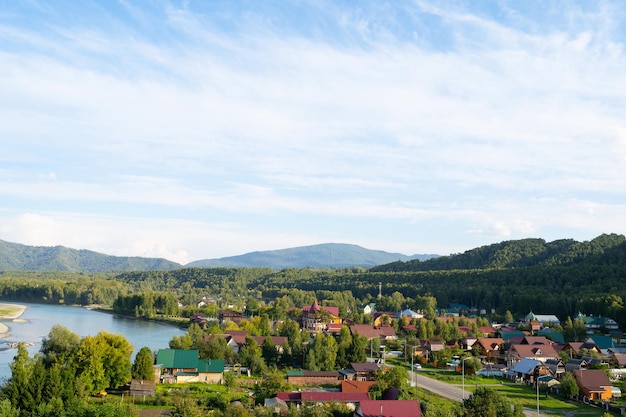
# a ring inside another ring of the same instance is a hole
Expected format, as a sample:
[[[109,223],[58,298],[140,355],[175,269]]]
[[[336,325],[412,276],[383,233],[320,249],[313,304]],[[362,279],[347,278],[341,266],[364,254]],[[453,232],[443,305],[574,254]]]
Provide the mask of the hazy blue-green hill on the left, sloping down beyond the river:
[[[162,258],[110,256],[64,246],[28,246],[0,240],[3,271],[169,271],[181,266]]]

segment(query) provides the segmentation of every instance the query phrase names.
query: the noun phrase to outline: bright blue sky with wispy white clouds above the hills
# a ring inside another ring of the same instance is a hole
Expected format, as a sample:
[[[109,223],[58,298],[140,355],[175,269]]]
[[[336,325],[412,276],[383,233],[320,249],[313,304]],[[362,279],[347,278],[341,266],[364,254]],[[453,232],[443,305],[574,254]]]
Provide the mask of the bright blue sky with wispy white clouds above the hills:
[[[182,264],[626,233],[626,3],[0,2],[0,239]]]

